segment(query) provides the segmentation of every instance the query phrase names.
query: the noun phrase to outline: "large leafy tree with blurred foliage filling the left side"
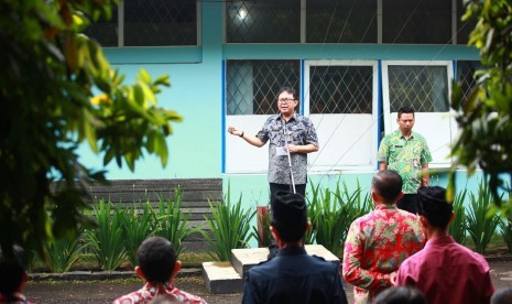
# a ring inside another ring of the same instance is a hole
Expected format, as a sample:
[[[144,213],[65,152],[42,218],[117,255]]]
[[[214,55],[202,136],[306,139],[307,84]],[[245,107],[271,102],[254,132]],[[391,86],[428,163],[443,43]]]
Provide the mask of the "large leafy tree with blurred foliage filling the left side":
[[[117,0],[0,2],[0,242],[41,250],[73,236],[91,182],[105,171],[80,164],[87,142],[133,171],[148,153],[167,162],[165,138],[182,117],[157,107],[168,76],[141,70],[133,85],[112,70],[100,45],[84,35],[109,19]],[[52,181],[63,181],[51,191]],[[6,252],[6,251],[4,251]]]

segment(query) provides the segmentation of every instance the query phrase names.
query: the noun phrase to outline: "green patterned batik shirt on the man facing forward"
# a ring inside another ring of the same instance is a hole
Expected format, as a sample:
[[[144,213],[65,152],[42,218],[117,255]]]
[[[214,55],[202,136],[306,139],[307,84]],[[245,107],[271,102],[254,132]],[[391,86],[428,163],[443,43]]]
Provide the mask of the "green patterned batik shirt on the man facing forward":
[[[405,139],[396,130],[382,139],[377,161],[386,163],[388,170],[396,171],[402,176],[404,193],[416,194],[422,184],[422,165],[432,162],[432,155],[424,137],[413,131]]]

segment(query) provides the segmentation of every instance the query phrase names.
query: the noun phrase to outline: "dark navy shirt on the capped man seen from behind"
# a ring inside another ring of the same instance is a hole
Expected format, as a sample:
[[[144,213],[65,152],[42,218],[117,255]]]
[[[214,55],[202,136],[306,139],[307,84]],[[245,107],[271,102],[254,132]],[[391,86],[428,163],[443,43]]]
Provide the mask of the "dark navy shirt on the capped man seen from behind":
[[[303,247],[282,248],[277,257],[249,270],[242,303],[348,303],[339,267],[308,256]]]

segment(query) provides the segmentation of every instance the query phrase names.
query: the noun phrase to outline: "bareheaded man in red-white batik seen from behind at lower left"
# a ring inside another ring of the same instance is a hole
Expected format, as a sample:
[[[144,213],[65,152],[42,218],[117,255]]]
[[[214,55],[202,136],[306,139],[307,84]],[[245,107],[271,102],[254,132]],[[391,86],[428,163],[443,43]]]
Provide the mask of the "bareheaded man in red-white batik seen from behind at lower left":
[[[206,303],[201,297],[174,286],[174,279],[182,263],[176,260],[176,252],[168,240],[161,237],[144,240],[137,251],[137,258],[139,265],[135,267],[135,273],[145,284],[142,289],[117,298],[113,304],[148,303],[157,295],[178,303]]]

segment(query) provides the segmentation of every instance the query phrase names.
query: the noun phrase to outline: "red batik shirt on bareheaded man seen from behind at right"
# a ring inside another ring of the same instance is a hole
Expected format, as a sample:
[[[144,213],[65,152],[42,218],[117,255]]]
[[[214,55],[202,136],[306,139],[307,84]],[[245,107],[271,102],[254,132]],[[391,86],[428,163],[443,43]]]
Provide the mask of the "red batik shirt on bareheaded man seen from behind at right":
[[[345,280],[355,285],[355,303],[368,303],[390,287],[390,274],[424,242],[416,215],[394,204],[378,205],[356,219],[345,241],[342,268]]]

